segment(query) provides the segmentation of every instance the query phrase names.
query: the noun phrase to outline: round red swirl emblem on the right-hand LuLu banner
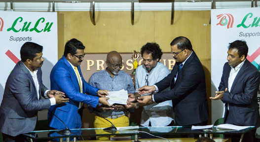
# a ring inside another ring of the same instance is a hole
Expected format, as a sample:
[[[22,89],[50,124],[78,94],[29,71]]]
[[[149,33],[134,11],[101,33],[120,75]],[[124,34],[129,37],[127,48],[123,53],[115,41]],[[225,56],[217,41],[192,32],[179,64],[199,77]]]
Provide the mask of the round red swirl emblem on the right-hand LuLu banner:
[[[234,17],[231,14],[220,14],[217,15],[217,18],[221,18],[217,25],[226,26],[227,29],[233,27]]]

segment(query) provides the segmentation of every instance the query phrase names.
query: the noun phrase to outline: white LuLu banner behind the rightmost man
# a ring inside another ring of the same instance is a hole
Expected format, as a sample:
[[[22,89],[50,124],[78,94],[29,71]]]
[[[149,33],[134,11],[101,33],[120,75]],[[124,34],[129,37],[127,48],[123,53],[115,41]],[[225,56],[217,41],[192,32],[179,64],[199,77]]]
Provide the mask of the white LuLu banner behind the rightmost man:
[[[245,40],[247,59],[260,70],[260,8],[211,10],[211,96],[218,90],[229,43]],[[259,94],[258,94],[259,100]],[[212,123],[223,117],[223,103],[212,101]]]

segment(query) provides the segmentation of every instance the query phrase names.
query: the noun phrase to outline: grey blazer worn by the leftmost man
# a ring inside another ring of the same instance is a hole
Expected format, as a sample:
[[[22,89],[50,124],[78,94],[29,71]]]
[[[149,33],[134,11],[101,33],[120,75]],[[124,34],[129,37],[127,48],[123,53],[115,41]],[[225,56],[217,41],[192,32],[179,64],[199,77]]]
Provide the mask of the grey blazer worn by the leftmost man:
[[[41,69],[37,70],[39,94],[43,96],[47,88],[42,84]],[[13,137],[31,132],[36,126],[37,111],[49,107],[49,99],[37,99],[32,75],[23,62],[18,62],[5,84],[0,106],[0,131]]]

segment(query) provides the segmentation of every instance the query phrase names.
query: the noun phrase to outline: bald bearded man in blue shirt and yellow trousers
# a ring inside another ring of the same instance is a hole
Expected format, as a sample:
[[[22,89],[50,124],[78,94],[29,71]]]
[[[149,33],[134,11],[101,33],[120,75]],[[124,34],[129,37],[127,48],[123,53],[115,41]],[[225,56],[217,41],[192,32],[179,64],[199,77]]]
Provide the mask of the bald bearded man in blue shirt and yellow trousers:
[[[133,95],[135,90],[131,76],[124,71],[120,71],[124,66],[121,55],[116,51],[109,52],[106,65],[106,70],[92,74],[89,79],[89,84],[99,89],[109,91],[120,91],[124,89],[127,90],[129,95]],[[112,107],[106,107],[99,104],[95,110],[91,110],[90,108],[90,111],[94,111],[97,114],[94,121],[95,128],[111,127],[111,123],[104,118],[111,121],[115,127],[129,126],[128,113],[124,105],[113,104]],[[102,132],[103,130],[98,133],[101,134]],[[97,139],[109,140],[109,137],[97,137]]]

